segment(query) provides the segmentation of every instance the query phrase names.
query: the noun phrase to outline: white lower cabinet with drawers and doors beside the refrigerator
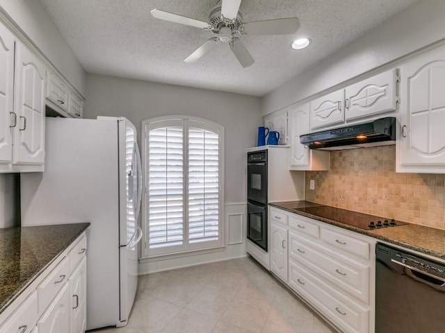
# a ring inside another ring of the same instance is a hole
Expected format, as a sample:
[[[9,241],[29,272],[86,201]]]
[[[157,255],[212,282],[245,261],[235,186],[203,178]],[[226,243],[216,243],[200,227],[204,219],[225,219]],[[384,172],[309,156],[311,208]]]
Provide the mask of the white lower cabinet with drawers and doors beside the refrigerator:
[[[29,295],[0,323],[0,333],[86,331],[86,235],[60,254],[22,294]],[[17,300],[18,301],[18,300]]]

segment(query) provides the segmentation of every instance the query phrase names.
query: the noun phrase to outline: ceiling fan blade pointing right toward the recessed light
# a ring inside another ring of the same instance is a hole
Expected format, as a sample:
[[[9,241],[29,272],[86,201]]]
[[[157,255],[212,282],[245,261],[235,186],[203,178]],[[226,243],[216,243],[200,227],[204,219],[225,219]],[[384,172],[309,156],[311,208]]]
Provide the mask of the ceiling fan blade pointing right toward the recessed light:
[[[245,23],[242,28],[245,35],[291,35],[300,28],[300,21],[298,17],[268,19]]]

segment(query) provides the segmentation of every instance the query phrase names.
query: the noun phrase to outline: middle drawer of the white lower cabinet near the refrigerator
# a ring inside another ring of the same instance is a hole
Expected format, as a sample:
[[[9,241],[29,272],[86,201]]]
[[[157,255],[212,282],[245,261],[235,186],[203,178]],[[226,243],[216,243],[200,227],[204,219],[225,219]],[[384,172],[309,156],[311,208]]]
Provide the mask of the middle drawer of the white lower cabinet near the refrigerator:
[[[38,311],[41,314],[56,296],[56,293],[63,287],[70,274],[70,261],[64,257],[51,273],[37,287]]]

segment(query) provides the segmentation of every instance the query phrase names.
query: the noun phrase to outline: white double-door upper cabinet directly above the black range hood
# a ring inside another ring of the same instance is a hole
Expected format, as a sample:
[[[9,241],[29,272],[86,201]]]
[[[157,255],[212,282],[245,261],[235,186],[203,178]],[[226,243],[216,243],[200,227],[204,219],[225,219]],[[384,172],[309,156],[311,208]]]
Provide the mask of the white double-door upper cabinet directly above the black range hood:
[[[311,132],[397,111],[398,69],[390,69],[310,102]]]

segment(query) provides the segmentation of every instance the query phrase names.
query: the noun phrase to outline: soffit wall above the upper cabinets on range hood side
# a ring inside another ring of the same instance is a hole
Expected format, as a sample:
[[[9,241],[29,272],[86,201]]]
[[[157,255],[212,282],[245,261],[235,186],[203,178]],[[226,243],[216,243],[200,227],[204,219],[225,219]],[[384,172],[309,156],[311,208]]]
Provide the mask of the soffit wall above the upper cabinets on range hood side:
[[[264,96],[261,113],[285,108],[444,39],[445,1],[421,0]]]

